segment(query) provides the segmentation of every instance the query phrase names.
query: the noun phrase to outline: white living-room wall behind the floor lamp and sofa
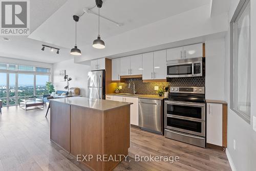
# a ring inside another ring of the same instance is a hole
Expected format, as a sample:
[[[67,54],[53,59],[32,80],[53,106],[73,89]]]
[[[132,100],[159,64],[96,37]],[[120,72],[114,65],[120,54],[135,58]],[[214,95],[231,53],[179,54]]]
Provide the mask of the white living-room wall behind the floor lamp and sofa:
[[[67,86],[67,81],[64,82],[63,78],[59,76],[59,71],[61,70],[66,70],[66,74],[72,78],[70,88],[80,88],[80,95],[87,97],[87,73],[91,71],[91,67],[74,63],[73,59],[54,63],[53,84],[55,90],[66,91],[64,87]]]

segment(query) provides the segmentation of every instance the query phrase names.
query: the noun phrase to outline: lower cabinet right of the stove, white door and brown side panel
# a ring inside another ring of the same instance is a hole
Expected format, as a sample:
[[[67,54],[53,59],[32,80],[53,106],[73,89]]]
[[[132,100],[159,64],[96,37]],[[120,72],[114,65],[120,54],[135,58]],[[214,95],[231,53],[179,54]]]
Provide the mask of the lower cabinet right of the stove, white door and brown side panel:
[[[226,104],[207,103],[206,142],[226,147]]]

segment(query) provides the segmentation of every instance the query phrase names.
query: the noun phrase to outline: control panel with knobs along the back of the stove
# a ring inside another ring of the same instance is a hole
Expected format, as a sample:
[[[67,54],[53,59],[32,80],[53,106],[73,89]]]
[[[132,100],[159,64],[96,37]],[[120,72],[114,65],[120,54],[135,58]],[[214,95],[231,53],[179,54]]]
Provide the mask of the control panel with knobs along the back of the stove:
[[[170,93],[205,94],[204,87],[170,87]]]

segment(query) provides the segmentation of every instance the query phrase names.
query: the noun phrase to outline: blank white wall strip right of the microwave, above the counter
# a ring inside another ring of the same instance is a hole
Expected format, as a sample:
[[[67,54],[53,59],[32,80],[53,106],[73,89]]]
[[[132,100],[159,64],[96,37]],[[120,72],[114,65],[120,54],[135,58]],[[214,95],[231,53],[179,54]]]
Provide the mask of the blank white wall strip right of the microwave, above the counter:
[[[224,100],[225,39],[205,41],[205,98]]]

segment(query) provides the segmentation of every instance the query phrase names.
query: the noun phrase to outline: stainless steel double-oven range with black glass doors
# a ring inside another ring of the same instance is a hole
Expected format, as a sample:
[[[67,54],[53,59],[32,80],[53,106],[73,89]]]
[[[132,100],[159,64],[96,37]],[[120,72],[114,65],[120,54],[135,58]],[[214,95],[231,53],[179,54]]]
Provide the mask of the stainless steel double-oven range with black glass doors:
[[[164,102],[166,138],[205,147],[204,87],[171,87]]]

